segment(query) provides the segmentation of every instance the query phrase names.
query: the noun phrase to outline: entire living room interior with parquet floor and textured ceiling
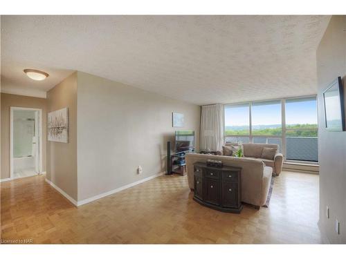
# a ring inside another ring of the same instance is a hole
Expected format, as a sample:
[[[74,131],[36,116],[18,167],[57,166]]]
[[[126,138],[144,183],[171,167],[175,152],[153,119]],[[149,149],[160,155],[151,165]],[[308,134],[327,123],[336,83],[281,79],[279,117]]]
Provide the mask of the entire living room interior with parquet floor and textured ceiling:
[[[1,243],[345,244],[345,15],[0,24]]]

